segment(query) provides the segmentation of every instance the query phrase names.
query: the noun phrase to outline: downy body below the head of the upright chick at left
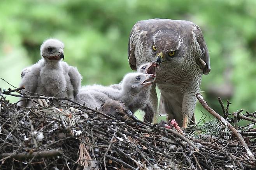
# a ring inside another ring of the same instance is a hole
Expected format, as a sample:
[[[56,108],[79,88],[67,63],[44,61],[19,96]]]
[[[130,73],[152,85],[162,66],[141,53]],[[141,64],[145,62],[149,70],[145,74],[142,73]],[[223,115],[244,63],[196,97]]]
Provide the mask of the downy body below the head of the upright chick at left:
[[[81,88],[81,75],[75,67],[64,61],[49,62],[41,59],[25,68],[23,73],[20,86],[25,86],[26,91],[33,93],[74,99]]]

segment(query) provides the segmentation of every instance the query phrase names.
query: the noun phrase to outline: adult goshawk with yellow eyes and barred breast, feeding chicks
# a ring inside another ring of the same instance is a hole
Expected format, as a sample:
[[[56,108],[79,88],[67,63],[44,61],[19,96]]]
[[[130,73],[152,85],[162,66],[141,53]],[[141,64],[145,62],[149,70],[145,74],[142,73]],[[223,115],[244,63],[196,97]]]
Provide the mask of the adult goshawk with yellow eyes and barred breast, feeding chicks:
[[[196,93],[202,74],[210,72],[210,59],[203,33],[192,22],[171,19],[138,21],[128,44],[130,67],[156,61],[156,82],[161,91],[160,112],[186,127],[194,117]],[[157,107],[155,89],[151,101]]]

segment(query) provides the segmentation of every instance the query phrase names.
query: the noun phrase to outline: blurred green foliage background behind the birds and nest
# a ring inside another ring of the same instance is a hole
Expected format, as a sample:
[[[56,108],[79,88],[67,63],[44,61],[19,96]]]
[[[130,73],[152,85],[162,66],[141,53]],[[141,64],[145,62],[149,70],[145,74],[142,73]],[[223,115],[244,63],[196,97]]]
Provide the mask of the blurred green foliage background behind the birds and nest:
[[[82,85],[115,84],[132,71],[127,46],[134,23],[150,18],[189,20],[200,26],[210,51],[212,70],[203,76],[203,96],[218,112],[217,96],[233,103],[230,111],[252,112],[255,9],[255,0],[1,0],[0,77],[18,87],[21,70],[40,59],[40,44],[53,37],[64,42],[64,61],[78,68]],[[0,87],[10,86],[0,80]],[[200,110],[198,105],[198,119]]]

